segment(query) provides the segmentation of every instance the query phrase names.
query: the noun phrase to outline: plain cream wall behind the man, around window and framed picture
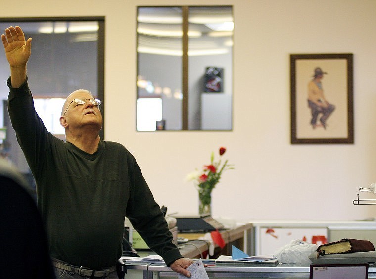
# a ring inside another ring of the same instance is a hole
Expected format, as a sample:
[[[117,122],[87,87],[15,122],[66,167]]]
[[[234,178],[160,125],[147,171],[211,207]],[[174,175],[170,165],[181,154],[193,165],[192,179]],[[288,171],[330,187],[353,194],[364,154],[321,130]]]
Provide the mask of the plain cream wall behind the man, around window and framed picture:
[[[233,5],[234,130],[136,132],[136,7]],[[376,181],[374,0],[14,0],[2,17],[105,16],[105,139],[137,158],[168,212],[197,213],[187,173],[225,146],[235,170],[213,192],[215,217],[348,220],[376,216],[355,206]],[[74,8],[72,8],[74,7]],[[289,54],[354,54],[354,144],[290,144]],[[3,81],[5,82],[5,81]]]

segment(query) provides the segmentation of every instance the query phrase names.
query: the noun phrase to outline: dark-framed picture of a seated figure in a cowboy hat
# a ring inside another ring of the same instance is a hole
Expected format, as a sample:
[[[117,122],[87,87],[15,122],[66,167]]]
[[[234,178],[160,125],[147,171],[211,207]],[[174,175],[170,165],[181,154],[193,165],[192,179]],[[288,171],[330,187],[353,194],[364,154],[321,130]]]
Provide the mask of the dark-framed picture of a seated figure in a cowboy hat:
[[[291,54],[291,143],[354,143],[353,55]]]

